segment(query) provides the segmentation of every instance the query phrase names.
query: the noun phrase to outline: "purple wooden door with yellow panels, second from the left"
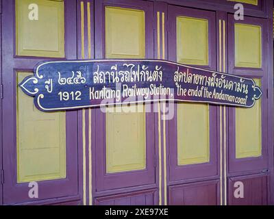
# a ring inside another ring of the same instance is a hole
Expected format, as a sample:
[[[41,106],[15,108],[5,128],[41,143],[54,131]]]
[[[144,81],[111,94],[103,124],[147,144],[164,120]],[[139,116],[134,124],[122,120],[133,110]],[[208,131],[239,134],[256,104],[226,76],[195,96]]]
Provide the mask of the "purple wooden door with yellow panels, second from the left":
[[[96,1],[95,58],[153,58],[151,21],[151,2]],[[155,114],[152,104],[138,107],[92,110],[95,204],[155,203]]]

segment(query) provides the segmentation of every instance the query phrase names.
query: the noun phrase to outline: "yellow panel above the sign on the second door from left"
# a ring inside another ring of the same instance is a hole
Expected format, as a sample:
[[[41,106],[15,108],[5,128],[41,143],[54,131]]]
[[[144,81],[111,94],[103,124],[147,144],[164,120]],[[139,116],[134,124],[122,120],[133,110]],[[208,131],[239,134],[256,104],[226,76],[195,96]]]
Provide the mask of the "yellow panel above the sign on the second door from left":
[[[145,12],[105,8],[105,57],[145,57]]]

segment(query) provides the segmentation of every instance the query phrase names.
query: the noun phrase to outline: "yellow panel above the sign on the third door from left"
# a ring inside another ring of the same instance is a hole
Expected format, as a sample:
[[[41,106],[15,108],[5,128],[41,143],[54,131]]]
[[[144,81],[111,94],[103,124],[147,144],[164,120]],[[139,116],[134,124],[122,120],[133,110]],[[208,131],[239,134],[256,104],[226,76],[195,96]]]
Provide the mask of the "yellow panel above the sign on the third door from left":
[[[208,20],[177,16],[177,62],[208,66]]]

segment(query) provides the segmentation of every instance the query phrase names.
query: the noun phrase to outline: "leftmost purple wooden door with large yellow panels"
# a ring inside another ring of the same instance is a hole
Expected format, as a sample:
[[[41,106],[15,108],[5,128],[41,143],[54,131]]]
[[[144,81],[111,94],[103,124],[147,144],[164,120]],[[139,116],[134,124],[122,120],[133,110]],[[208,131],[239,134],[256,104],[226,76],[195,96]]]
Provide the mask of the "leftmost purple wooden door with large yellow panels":
[[[38,20],[28,18],[29,1],[2,3],[3,204],[75,196],[77,112],[38,112],[17,83],[42,60],[77,57],[76,1],[39,1]]]

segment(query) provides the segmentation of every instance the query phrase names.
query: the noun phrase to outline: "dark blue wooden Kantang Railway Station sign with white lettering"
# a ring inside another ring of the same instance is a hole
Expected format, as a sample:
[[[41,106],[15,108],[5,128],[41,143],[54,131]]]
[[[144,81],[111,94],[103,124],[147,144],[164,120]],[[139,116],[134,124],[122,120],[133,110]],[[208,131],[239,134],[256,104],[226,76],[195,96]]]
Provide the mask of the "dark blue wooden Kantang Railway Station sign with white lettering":
[[[153,101],[252,107],[262,96],[253,79],[164,60],[42,62],[18,86],[44,112]]]

